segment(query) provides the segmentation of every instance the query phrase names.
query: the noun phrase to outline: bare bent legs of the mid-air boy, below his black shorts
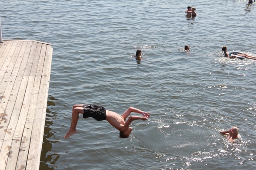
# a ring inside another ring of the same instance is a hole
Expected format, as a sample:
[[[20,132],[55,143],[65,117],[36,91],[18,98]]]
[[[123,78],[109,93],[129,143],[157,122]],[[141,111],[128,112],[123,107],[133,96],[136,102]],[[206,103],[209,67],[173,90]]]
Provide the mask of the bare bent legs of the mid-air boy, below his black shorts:
[[[71,118],[71,125],[67,132],[67,134],[64,136],[64,138],[70,137],[73,134],[76,134],[76,126],[79,119],[79,114],[84,114],[84,105],[74,105],[72,109],[72,118]]]

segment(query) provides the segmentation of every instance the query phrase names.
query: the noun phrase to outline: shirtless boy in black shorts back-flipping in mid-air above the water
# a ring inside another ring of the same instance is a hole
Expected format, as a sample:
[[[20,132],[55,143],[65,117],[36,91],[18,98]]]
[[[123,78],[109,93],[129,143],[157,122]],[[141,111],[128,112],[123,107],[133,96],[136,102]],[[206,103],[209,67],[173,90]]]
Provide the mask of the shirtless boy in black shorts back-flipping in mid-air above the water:
[[[126,118],[131,114],[131,112],[139,113],[142,116],[131,115],[128,120]],[[74,105],[72,108],[71,125],[69,131],[64,136],[64,138],[70,137],[76,134],[76,126],[79,119],[79,114],[83,114],[83,118],[92,117],[97,121],[108,121],[113,127],[117,128],[121,138],[127,138],[131,134],[132,128],[129,127],[132,121],[135,120],[148,120],[150,113],[141,111],[137,108],[129,107],[122,115],[117,114],[113,111],[106,110],[102,106],[97,105]],[[86,129],[86,127],[84,127]]]

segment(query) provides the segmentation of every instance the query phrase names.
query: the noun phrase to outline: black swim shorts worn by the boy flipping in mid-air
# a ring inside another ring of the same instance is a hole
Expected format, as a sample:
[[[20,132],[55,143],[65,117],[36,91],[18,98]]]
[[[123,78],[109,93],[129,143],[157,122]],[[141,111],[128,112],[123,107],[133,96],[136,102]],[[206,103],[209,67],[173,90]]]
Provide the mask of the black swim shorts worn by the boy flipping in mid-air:
[[[97,121],[106,120],[106,109],[97,105],[84,105],[83,118],[92,117]]]

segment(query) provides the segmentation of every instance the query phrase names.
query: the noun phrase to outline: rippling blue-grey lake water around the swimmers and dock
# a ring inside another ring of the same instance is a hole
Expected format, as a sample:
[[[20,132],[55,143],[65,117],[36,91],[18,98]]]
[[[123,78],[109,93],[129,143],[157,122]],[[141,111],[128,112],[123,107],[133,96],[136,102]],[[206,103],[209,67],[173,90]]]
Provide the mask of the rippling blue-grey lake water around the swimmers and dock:
[[[256,167],[256,3],[247,0],[2,1],[3,39],[52,43],[40,170],[226,170]],[[185,17],[187,6],[198,16]],[[185,45],[191,50],[184,52]],[[132,55],[142,50],[142,60]],[[151,113],[128,139],[74,104]],[[219,131],[239,127],[229,143]]]

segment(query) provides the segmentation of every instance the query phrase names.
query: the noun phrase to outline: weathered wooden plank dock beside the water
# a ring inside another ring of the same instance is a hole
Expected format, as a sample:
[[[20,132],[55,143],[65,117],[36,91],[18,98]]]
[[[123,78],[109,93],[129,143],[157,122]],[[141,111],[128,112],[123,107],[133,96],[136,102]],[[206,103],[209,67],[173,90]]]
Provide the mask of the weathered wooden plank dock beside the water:
[[[52,46],[0,43],[0,170],[39,170]]]

